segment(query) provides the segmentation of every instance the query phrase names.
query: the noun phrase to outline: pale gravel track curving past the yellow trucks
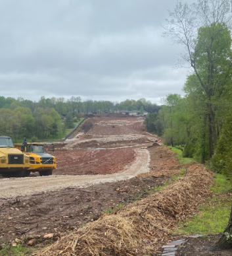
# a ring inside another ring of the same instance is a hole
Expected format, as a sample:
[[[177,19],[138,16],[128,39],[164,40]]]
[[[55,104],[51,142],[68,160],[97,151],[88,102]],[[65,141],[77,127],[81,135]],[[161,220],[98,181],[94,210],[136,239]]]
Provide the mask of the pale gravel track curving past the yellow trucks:
[[[138,174],[149,172],[150,154],[147,149],[135,149],[136,158],[122,172],[95,176],[43,176],[0,179],[0,198],[33,195],[46,191],[56,191],[66,187],[88,187],[98,183],[122,181]]]

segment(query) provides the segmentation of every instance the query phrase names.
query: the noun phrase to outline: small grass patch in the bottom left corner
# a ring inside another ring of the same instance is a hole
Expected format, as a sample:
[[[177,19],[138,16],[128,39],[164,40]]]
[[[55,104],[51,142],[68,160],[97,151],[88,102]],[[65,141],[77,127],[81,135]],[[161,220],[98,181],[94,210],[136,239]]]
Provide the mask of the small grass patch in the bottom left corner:
[[[34,250],[18,244],[17,246],[4,245],[0,249],[0,256],[30,255]]]

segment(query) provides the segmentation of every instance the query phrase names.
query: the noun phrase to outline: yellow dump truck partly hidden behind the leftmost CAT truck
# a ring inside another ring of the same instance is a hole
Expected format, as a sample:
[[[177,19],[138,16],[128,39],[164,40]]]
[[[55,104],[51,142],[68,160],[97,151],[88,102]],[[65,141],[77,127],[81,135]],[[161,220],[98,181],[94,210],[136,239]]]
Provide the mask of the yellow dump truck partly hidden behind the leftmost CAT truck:
[[[30,172],[39,172],[40,176],[49,176],[57,168],[55,156],[44,151],[44,143],[27,143],[24,139],[22,144],[14,144],[14,146],[30,157],[28,176]]]

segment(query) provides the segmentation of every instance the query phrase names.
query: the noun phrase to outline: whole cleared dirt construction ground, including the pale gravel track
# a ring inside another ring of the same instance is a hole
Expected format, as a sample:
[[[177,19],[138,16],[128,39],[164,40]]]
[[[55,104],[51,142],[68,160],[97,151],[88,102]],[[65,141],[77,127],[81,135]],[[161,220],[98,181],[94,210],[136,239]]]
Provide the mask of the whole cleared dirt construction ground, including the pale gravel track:
[[[162,140],[147,133],[143,121],[91,117],[69,140],[55,143],[53,176],[0,179],[0,245],[40,247],[51,243],[46,234],[57,240],[158,193],[181,166],[166,146],[154,146]]]

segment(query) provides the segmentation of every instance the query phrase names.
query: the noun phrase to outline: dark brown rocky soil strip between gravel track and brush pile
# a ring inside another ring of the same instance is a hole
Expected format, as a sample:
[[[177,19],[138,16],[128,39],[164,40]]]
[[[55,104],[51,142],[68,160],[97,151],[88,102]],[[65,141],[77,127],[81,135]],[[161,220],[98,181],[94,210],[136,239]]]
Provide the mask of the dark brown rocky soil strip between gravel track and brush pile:
[[[117,210],[115,207],[119,203],[129,203],[154,193],[154,186],[164,185],[168,177],[177,172],[179,165],[174,166],[174,154],[166,147],[156,146],[149,148],[149,151],[152,172],[146,177],[85,189],[70,187],[17,199],[0,199],[0,245],[16,238],[25,239],[25,243],[28,240],[32,240],[33,244],[46,243],[43,240],[45,234],[53,233],[58,237],[60,233],[76,230],[86,222],[97,220],[104,210]],[[167,162],[172,165],[170,173],[168,166],[162,172],[162,164]],[[153,169],[154,164],[158,172]]]

